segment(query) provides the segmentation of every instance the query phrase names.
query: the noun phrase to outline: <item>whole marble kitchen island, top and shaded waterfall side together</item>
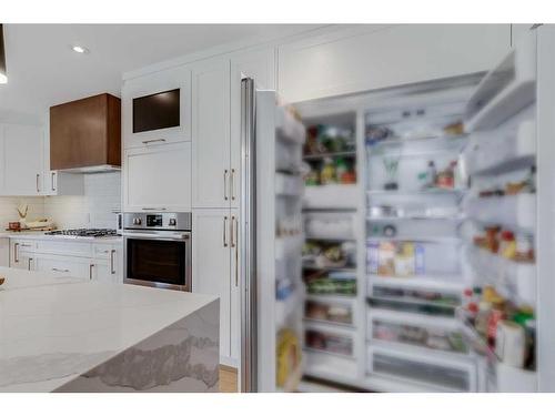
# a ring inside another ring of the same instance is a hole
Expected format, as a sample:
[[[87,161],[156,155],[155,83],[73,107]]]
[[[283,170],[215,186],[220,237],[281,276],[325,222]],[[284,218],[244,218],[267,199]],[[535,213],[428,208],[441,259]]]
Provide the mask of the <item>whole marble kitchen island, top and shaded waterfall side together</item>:
[[[0,392],[219,390],[218,297],[0,275]]]

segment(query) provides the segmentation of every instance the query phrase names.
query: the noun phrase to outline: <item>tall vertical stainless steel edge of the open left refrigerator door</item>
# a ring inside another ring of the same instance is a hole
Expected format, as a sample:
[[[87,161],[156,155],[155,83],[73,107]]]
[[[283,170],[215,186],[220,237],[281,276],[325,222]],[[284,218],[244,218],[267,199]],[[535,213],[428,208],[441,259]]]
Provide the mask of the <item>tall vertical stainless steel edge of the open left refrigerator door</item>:
[[[241,80],[241,390],[258,390],[254,80]]]

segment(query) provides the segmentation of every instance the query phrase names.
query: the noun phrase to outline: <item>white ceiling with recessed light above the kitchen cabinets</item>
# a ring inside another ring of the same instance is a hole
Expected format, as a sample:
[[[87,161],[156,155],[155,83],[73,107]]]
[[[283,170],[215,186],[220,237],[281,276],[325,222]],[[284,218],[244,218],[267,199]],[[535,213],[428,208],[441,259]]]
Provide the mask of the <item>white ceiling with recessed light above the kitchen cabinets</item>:
[[[311,24],[4,24],[0,121],[42,122],[49,106],[110,92],[123,72],[231,42],[270,40]],[[72,44],[90,50],[75,53]]]

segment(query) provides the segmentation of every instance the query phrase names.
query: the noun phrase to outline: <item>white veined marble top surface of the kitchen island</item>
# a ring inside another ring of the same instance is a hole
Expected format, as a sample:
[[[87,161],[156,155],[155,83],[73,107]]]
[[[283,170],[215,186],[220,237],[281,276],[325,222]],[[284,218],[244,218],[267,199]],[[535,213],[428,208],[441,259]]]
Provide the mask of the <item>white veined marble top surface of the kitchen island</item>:
[[[216,297],[0,267],[0,392],[51,392]]]

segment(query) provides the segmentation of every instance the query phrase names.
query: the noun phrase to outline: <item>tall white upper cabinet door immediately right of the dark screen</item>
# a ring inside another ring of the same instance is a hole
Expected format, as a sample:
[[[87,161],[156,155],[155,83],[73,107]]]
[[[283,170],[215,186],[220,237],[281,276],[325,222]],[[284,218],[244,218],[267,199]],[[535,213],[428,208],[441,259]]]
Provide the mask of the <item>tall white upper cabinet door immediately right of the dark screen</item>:
[[[193,207],[229,207],[236,182],[230,166],[229,60],[196,64],[192,93]]]

